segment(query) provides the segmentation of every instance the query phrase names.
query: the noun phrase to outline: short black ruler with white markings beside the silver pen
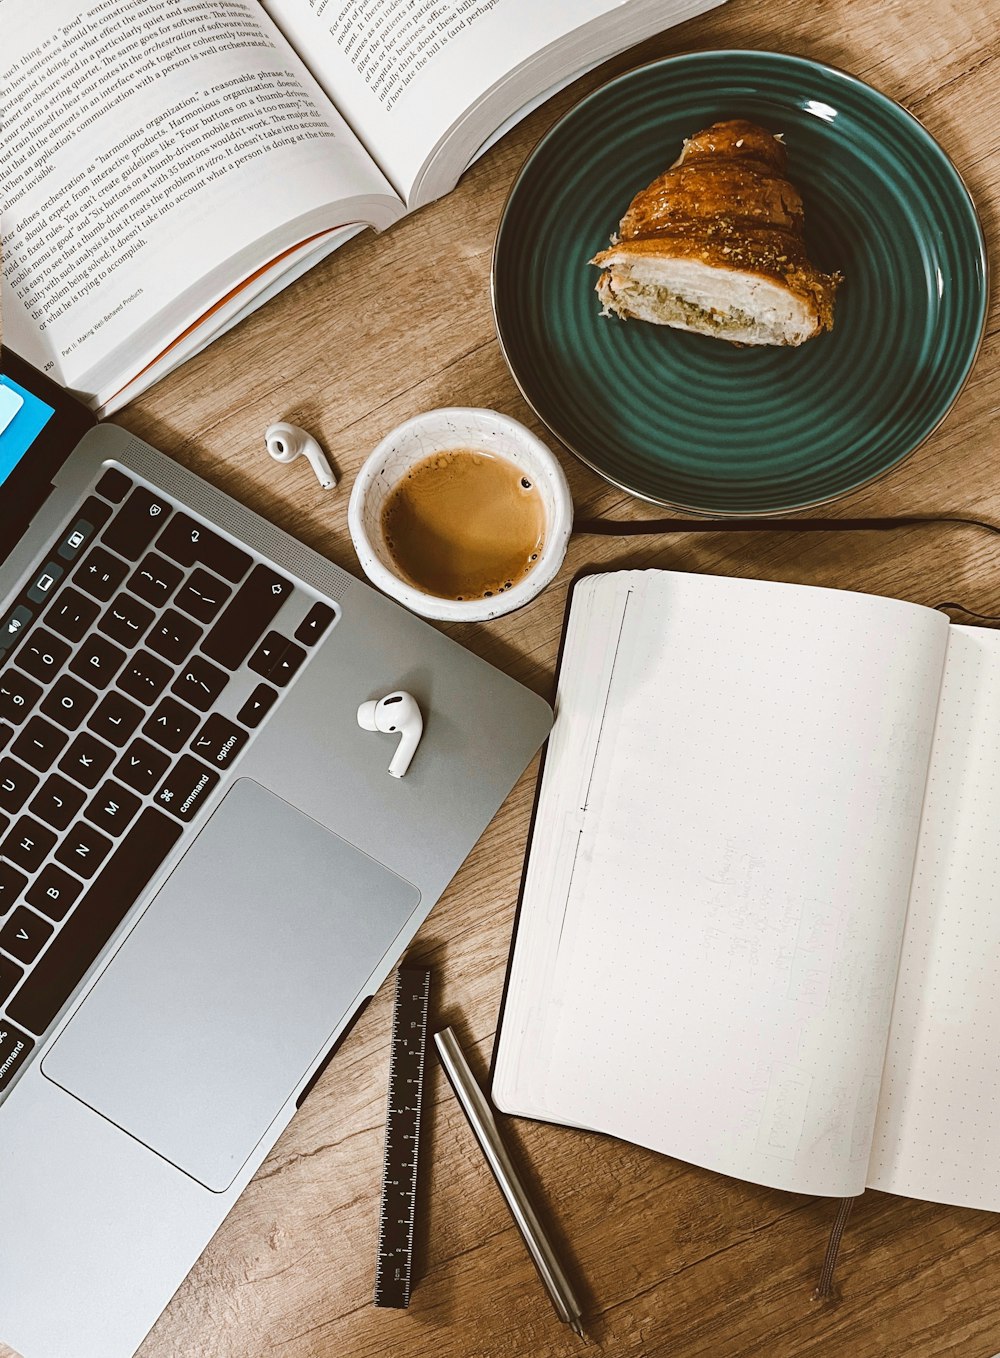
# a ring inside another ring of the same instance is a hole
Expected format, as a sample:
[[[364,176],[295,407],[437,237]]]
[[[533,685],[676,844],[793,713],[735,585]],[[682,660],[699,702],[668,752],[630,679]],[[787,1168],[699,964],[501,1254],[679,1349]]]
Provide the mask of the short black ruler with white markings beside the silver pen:
[[[375,1271],[376,1306],[408,1306],[410,1301],[429,998],[431,972],[425,967],[401,967],[397,971]]]

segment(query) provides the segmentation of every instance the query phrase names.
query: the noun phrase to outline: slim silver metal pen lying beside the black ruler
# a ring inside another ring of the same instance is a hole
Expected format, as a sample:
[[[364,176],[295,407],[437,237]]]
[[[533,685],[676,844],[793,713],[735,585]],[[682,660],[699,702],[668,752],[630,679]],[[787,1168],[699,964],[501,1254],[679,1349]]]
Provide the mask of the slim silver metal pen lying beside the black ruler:
[[[580,1324],[580,1304],[573,1296],[569,1279],[562,1271],[562,1266],[556,1258],[552,1241],[545,1233],[538,1214],[524,1192],[524,1186],[514,1168],[507,1146],[500,1138],[500,1128],[496,1124],[493,1109],[484,1092],[476,1082],[476,1077],[469,1069],[469,1062],[458,1044],[458,1039],[451,1028],[442,1028],[433,1035],[438,1044],[444,1071],[455,1090],[455,1097],[462,1105],[462,1111],[469,1119],[469,1124],[476,1133],[476,1139],[486,1157],[486,1164],[493,1171],[493,1177],[500,1186],[500,1192],[507,1199],[511,1215],[529,1248],[535,1268],[545,1283],[552,1304],[560,1320],[564,1320],[571,1329],[583,1339],[583,1325]]]

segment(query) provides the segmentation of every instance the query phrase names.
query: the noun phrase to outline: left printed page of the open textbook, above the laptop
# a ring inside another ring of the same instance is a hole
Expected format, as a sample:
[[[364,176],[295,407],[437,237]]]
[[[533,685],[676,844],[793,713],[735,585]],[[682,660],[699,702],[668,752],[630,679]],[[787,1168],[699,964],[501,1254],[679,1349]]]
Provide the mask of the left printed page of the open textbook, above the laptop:
[[[7,340],[64,386],[122,386],[283,250],[402,210],[254,0],[0,24]]]

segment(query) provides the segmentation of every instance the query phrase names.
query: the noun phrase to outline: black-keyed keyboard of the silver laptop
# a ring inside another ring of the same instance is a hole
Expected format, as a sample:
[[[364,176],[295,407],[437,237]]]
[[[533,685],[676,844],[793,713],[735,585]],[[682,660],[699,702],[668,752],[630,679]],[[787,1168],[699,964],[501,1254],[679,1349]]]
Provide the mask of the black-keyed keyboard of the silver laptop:
[[[0,1096],[333,622],[293,593],[111,469],[0,622]]]

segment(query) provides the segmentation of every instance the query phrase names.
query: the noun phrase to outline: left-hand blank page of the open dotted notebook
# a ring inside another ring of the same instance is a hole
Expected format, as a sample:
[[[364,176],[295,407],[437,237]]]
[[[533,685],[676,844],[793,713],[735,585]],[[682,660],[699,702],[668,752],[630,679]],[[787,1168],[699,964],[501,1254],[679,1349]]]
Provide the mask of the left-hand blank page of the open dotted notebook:
[[[562,892],[538,902],[520,968],[519,925],[497,1103],[773,1187],[860,1192],[947,619],[761,581],[598,580],[620,622],[562,668],[596,674],[617,626],[614,663],[569,710],[560,680],[556,732],[579,732],[580,705],[601,721],[567,762],[576,815],[557,794],[561,827],[533,838]]]

